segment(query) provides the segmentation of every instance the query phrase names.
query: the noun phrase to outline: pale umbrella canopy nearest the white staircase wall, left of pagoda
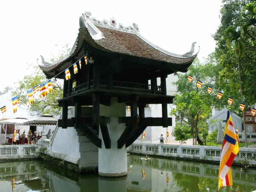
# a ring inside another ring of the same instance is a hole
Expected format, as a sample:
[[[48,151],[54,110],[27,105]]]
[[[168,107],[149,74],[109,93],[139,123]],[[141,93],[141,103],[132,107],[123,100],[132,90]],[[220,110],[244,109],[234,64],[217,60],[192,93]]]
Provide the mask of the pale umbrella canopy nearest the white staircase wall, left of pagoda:
[[[38,118],[23,122],[23,125],[56,125],[58,119],[49,114],[41,115]]]

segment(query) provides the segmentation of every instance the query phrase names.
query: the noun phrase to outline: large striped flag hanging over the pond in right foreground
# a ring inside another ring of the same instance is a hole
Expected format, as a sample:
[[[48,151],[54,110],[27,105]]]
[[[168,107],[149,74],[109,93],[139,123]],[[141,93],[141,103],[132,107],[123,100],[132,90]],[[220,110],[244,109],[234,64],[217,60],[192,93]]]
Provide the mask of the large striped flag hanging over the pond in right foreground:
[[[230,116],[227,111],[227,122],[225,125],[224,139],[221,151],[221,161],[218,175],[218,189],[223,186],[232,186],[231,165],[234,158],[239,152],[238,141],[236,139],[236,132]]]

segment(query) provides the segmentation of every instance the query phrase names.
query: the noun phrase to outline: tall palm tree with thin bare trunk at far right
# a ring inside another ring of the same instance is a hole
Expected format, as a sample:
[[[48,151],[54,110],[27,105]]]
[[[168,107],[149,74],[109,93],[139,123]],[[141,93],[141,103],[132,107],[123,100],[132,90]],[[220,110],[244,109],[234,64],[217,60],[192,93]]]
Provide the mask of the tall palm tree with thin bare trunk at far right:
[[[241,84],[241,64],[240,60],[245,56],[245,44],[241,40],[241,32],[242,30],[233,29],[231,27],[225,30],[226,35],[226,43],[227,47],[235,52],[237,63],[238,63],[238,73],[239,73],[239,85],[240,85],[240,93],[241,93],[241,102],[244,103],[243,99],[243,90]],[[244,120],[244,112],[243,112],[243,120]],[[244,134],[245,134],[245,147],[247,147],[247,130],[244,123]]]

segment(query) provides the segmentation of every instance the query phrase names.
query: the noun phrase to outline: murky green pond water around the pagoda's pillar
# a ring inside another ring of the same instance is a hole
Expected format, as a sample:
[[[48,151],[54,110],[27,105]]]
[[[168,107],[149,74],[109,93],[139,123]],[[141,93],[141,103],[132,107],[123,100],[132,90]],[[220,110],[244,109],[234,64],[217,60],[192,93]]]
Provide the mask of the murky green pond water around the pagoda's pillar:
[[[0,163],[0,192],[217,192],[217,164],[127,156],[128,175],[77,174],[42,161]],[[256,190],[256,169],[232,168],[232,192]],[[238,189],[239,187],[239,189]],[[221,192],[228,192],[223,187]]]

